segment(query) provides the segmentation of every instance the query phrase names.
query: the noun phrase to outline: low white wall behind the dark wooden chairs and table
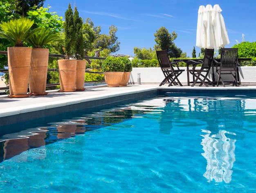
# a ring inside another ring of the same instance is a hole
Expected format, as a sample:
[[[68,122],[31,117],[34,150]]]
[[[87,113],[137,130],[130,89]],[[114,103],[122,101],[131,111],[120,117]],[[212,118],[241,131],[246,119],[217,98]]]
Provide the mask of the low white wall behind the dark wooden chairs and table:
[[[200,67],[199,67],[200,68]],[[187,72],[186,67],[180,67],[180,69],[185,69],[185,71],[179,76],[180,82],[183,85],[187,84]],[[241,84],[251,84],[256,85],[256,67],[239,67],[240,82]],[[137,84],[137,77],[140,74],[141,84],[160,84],[164,79],[164,74],[160,67],[153,68],[132,68],[132,73],[130,75],[130,84]],[[212,72],[209,73],[210,78],[212,77]],[[192,75],[189,76],[192,80]],[[223,76],[223,79],[229,80],[229,77]],[[215,80],[217,76],[215,74]]]

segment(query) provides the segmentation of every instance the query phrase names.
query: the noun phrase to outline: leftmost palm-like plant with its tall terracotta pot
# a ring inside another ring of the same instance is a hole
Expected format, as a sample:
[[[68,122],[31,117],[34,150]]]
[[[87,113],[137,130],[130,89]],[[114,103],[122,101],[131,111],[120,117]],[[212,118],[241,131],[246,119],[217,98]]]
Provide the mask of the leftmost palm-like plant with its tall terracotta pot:
[[[29,97],[27,94],[32,48],[24,47],[34,21],[19,18],[2,22],[0,38],[11,41],[14,47],[7,48],[9,69],[9,98]]]

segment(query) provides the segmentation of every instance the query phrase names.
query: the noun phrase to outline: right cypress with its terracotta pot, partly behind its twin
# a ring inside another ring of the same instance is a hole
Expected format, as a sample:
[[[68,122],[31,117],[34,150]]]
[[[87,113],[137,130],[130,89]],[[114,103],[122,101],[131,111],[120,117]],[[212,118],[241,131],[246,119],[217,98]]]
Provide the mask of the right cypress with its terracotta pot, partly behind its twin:
[[[84,55],[84,38],[82,31],[83,20],[79,17],[77,8],[74,9],[74,57],[76,58],[76,82],[75,89],[76,91],[84,91],[84,82],[85,82],[85,67],[86,60],[82,60]]]

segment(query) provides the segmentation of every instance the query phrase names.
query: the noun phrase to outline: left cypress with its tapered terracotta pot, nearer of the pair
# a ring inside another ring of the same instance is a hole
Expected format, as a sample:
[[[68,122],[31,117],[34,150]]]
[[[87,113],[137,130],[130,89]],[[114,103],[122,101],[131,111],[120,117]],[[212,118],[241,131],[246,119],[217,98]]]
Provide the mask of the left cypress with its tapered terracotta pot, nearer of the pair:
[[[64,52],[66,55],[65,60],[58,60],[59,78],[61,92],[75,91],[76,82],[76,60],[69,60],[72,58],[72,49],[74,46],[74,20],[71,4],[68,5],[68,9],[65,12],[64,22]]]

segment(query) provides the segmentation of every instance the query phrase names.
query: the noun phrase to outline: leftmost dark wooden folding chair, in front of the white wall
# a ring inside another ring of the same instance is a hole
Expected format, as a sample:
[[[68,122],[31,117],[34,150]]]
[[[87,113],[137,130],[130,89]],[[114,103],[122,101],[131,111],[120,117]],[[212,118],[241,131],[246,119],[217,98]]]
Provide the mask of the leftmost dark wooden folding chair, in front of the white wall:
[[[164,73],[164,80],[159,84],[159,86],[164,85],[166,82],[168,82],[168,87],[173,86],[173,85],[180,85],[183,86],[178,79],[178,76],[185,70],[180,70],[177,62],[170,62],[169,56],[168,56],[168,51],[167,50],[161,50],[161,51],[156,51],[157,52],[157,60],[159,62],[159,65],[162,69],[162,72]],[[177,69],[173,68],[173,64],[176,64]]]

